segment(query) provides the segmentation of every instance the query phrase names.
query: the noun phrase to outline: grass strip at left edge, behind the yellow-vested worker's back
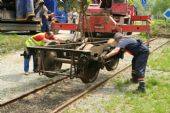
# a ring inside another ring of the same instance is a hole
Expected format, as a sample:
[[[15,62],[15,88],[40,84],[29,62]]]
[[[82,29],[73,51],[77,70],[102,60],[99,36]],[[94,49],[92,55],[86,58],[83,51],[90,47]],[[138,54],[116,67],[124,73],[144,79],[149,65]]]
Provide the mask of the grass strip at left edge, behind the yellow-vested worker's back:
[[[0,55],[24,48],[25,40],[18,35],[0,34]]]

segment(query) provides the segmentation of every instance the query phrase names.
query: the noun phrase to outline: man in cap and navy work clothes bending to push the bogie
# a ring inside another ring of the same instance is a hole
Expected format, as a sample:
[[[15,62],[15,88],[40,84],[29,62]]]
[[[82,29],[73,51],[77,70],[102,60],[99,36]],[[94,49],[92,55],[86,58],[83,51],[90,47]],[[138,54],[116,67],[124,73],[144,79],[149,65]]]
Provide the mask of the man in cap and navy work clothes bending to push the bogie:
[[[114,36],[116,48],[103,56],[108,59],[114,55],[124,53],[125,51],[133,55],[132,59],[132,83],[138,83],[136,91],[145,92],[145,69],[149,56],[149,48],[139,39],[123,36],[121,33],[116,33]]]

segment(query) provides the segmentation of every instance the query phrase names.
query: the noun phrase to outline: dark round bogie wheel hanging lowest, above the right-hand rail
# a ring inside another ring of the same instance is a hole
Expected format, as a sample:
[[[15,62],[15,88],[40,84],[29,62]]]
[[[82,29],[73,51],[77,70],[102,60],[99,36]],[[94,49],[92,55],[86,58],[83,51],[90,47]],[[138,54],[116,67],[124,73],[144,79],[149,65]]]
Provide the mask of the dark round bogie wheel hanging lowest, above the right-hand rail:
[[[83,83],[94,82],[99,74],[100,67],[97,61],[90,61],[81,72],[81,80]]]

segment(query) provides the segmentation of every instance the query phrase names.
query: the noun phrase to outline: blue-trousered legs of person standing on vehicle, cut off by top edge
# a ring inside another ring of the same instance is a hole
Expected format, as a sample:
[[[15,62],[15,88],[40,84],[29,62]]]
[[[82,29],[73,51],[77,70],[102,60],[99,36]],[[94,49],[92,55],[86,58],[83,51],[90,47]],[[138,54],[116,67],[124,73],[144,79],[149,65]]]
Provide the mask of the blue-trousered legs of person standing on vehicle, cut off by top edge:
[[[33,0],[16,0],[16,20],[32,20],[34,16]]]

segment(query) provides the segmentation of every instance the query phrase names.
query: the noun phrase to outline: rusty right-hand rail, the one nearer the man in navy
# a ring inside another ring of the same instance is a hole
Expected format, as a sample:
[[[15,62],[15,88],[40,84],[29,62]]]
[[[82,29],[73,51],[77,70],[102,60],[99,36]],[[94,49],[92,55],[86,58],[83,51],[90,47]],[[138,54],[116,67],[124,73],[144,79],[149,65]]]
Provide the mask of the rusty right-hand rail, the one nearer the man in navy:
[[[153,39],[154,40],[154,39]],[[151,41],[153,41],[151,40]],[[150,54],[152,54],[154,51],[158,50],[159,48],[161,48],[162,46],[166,45],[167,43],[169,43],[170,40],[168,40],[167,42],[163,43],[162,45],[158,46],[157,48],[153,49],[152,52],[150,52]],[[56,109],[54,109],[52,112],[50,113],[57,113],[60,112],[61,110],[63,110],[64,108],[66,108],[68,105],[70,105],[71,103],[77,101],[78,99],[80,99],[81,97],[85,96],[86,94],[90,93],[91,91],[97,89],[99,86],[103,85],[104,83],[106,83],[108,80],[110,80],[111,78],[115,77],[116,75],[118,75],[119,73],[125,71],[126,69],[128,69],[131,66],[131,64],[127,65],[126,67],[124,67],[122,70],[116,72],[114,75],[106,78],[105,80],[97,83],[94,86],[90,86],[89,88],[87,88],[87,90],[83,91],[82,93],[74,96],[73,98],[71,98],[70,100],[67,100],[66,102],[64,102],[62,105],[56,107]]]

